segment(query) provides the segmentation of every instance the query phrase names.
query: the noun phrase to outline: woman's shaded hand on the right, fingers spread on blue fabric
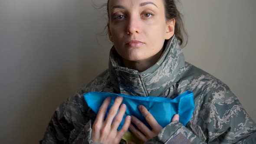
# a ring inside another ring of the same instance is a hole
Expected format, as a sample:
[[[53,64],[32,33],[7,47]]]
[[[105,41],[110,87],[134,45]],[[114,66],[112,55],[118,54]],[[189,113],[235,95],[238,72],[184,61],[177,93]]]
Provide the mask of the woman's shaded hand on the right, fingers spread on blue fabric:
[[[130,125],[129,129],[133,134],[135,134],[136,137],[138,137],[141,141],[145,142],[157,136],[163,128],[160,124],[158,124],[158,122],[151,115],[151,113],[149,113],[147,108],[145,108],[143,105],[139,105],[138,108],[141,111],[142,115],[144,115],[152,130],[150,130],[145,124],[143,124],[138,118],[134,116],[131,116],[131,122],[133,122],[139,130],[136,129],[132,124]],[[179,121],[179,115],[174,115],[174,117],[172,118],[172,122],[173,121]]]

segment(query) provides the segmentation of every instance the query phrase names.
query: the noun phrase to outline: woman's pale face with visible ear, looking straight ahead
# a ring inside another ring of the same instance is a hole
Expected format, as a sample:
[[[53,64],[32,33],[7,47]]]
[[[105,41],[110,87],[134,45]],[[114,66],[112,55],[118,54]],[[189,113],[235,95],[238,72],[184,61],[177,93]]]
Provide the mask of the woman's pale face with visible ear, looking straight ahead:
[[[163,0],[109,0],[108,7],[108,36],[123,59],[150,59],[174,35],[175,20],[166,21]]]

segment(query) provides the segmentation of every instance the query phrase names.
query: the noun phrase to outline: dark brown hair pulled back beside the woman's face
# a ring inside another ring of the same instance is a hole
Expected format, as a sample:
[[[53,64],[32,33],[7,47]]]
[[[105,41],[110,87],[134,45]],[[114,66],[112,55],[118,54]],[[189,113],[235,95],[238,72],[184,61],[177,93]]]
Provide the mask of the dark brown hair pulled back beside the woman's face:
[[[175,30],[174,34],[181,45],[181,47],[184,47],[187,45],[188,36],[187,32],[184,28],[184,23],[182,20],[183,15],[180,13],[180,11],[177,9],[176,6],[176,0],[163,0],[164,1],[164,7],[165,7],[165,18],[167,21],[175,19]],[[109,0],[107,5],[107,12],[108,12],[108,21],[109,21]]]

